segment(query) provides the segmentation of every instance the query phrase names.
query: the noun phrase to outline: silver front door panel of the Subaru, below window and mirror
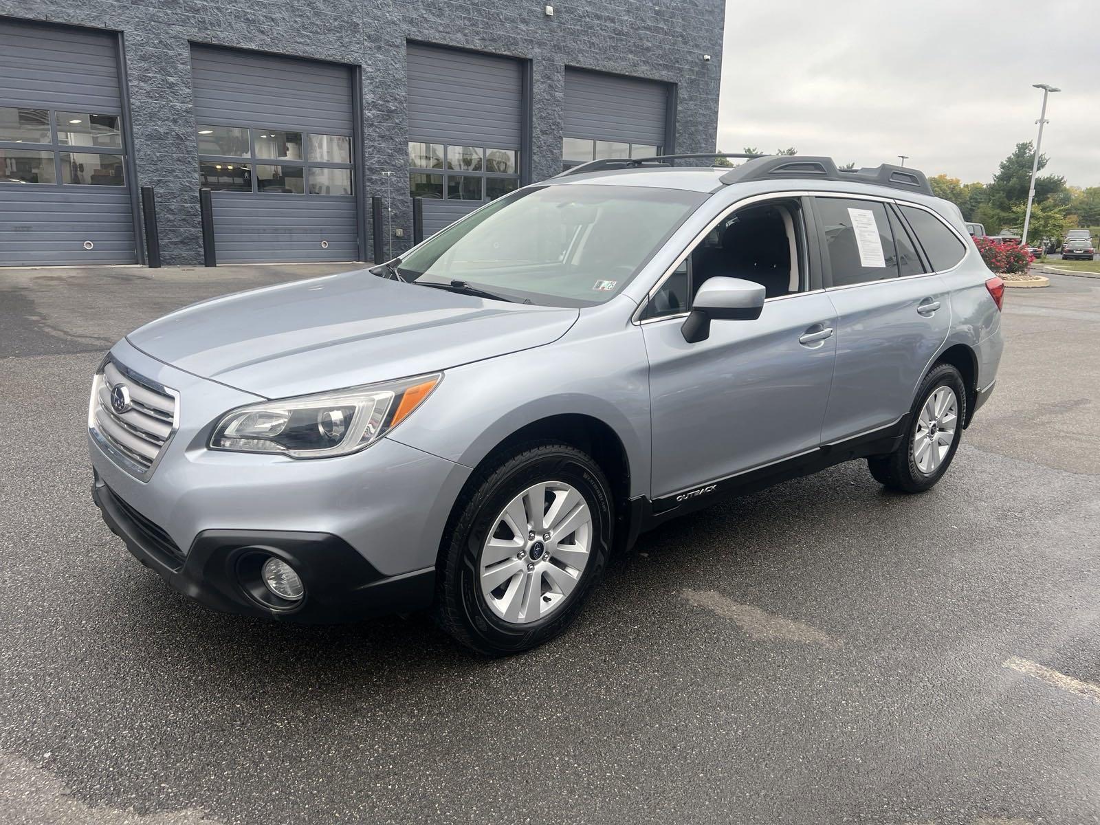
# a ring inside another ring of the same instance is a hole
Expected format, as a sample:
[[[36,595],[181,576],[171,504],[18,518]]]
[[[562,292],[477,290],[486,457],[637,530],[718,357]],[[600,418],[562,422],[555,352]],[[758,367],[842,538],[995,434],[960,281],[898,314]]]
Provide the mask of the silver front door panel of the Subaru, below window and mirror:
[[[817,448],[836,356],[826,295],[769,299],[754,321],[712,321],[698,343],[682,326],[642,327],[654,498]]]

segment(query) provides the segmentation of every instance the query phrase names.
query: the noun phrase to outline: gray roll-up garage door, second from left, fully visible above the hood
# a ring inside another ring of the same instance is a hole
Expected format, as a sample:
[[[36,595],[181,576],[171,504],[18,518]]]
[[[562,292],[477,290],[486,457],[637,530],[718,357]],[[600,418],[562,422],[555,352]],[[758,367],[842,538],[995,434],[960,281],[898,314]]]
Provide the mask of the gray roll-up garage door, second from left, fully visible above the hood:
[[[191,47],[218,263],[360,260],[348,66]]]

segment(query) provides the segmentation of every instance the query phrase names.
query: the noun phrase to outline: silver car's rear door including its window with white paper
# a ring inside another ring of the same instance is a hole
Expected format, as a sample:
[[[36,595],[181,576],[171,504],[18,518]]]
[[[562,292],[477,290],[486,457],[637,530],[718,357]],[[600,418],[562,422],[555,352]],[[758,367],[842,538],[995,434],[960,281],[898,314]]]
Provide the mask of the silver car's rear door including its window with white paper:
[[[822,443],[906,414],[950,328],[950,300],[886,199],[814,198],[822,263],[837,314],[836,369]]]

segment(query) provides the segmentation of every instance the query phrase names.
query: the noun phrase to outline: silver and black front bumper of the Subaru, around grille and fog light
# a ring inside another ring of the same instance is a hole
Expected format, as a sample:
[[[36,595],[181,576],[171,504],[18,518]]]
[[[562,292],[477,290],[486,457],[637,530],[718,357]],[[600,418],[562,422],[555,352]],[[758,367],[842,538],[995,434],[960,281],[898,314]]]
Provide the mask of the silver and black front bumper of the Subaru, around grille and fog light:
[[[125,340],[112,354],[179,394],[178,430],[145,479],[89,435],[97,504],[134,556],[177,590],[235,613],[328,622],[424,606],[469,468],[386,438],[316,460],[208,450],[212,422],[257,398],[176,370]],[[304,579],[314,579],[317,597],[307,595],[297,610],[256,603],[234,566],[252,546],[293,559]]]

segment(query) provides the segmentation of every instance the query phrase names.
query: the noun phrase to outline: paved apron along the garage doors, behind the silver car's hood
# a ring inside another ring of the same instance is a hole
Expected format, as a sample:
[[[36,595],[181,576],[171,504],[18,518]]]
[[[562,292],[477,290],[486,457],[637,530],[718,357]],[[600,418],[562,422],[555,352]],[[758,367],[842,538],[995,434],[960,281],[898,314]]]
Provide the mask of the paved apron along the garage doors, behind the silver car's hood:
[[[371,265],[0,268],[0,358],[107,350],[130,330],[198,300]]]

